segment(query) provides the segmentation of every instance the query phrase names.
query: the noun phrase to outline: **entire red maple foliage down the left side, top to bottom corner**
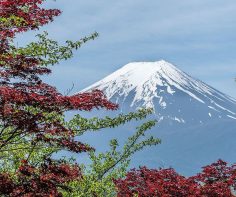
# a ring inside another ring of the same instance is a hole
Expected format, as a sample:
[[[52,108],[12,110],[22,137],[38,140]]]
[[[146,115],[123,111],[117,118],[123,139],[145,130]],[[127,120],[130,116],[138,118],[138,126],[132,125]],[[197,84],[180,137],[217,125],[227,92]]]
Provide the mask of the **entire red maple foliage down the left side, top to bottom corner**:
[[[79,166],[53,161],[46,155],[44,161],[31,165],[28,160],[32,151],[44,147],[75,153],[91,150],[88,145],[75,140],[75,132],[57,118],[58,115],[68,110],[117,108],[98,90],[74,96],[62,95],[40,79],[40,76],[51,73],[42,64],[42,56],[35,55],[34,48],[23,53],[14,46],[17,33],[38,29],[60,15],[60,10],[42,8],[43,2],[0,0],[0,154],[4,151],[10,154],[20,143],[29,149],[14,175],[0,172],[0,195],[61,196],[58,188],[67,189],[66,182],[81,178]],[[77,45],[72,43],[73,48]],[[2,158],[4,156],[0,155],[0,163]]]

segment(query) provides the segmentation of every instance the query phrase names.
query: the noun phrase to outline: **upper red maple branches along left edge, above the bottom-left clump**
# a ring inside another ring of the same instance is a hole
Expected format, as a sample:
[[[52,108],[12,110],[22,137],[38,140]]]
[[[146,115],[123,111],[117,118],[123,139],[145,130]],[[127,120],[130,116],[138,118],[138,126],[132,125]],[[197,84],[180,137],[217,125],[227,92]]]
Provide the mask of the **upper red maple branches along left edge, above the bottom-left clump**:
[[[76,153],[88,151],[90,147],[74,140],[73,131],[58,120],[48,123],[45,114],[93,108],[114,110],[117,105],[99,90],[73,96],[60,94],[39,77],[49,74],[49,68],[42,67],[36,57],[13,55],[9,48],[9,39],[15,33],[36,29],[60,14],[59,10],[43,9],[42,3],[42,0],[0,0],[0,17],[24,19],[24,24],[18,26],[0,25],[0,119],[4,127],[15,128],[7,140],[0,138],[0,150],[16,136],[30,136],[34,143],[42,141]],[[27,107],[38,112],[31,112]]]

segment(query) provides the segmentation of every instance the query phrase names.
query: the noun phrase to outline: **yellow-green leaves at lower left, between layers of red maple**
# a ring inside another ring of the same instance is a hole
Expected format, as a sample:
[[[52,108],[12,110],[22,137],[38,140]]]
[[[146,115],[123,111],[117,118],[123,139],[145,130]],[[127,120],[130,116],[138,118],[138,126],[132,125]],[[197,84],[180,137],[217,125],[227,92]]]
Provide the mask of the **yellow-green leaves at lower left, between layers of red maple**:
[[[47,113],[32,106],[25,106],[24,109],[31,114],[42,113],[46,123],[64,121],[64,115],[58,115],[55,112]],[[0,125],[1,141],[10,139],[10,137],[15,134],[14,132],[15,128],[5,124]],[[32,135],[30,138],[33,139],[34,137],[35,136]],[[32,165],[37,166],[44,161],[44,158],[49,157],[59,150],[59,148],[45,145],[43,142],[34,143],[34,141],[25,138],[23,135],[15,136],[11,140],[11,143],[0,149],[0,172],[5,171],[15,174],[23,159],[28,160]]]

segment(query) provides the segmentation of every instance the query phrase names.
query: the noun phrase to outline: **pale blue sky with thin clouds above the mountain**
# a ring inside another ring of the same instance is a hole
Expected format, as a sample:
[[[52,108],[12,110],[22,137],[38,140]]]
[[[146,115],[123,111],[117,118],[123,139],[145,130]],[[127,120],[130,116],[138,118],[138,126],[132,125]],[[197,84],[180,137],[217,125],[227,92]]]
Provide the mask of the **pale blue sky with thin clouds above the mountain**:
[[[46,5],[63,11],[42,29],[52,38],[100,34],[46,78],[62,92],[72,84],[77,92],[132,61],[164,59],[236,97],[235,0],[48,0]],[[19,45],[35,33],[18,36]]]

